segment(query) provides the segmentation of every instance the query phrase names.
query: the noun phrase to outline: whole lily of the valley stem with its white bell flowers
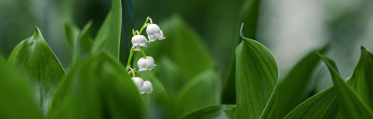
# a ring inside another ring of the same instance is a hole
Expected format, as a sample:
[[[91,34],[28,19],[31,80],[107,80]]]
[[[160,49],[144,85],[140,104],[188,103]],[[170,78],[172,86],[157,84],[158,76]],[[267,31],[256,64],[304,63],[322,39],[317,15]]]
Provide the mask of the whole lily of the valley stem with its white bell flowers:
[[[147,23],[148,20],[150,20],[150,23]],[[146,28],[146,33],[148,35],[148,39],[146,39],[146,37],[144,35],[141,35],[141,32],[142,30],[144,30],[144,28]],[[144,93],[151,93],[154,89],[153,89],[153,85],[151,84],[150,81],[144,81],[144,78],[142,77],[141,73],[139,71],[145,71],[145,70],[152,70],[156,64],[154,63],[154,59],[153,57],[150,57],[150,56],[146,56],[145,55],[145,52],[141,49],[141,46],[143,47],[148,47],[146,46],[148,44],[148,42],[154,42],[156,41],[157,39],[158,40],[162,40],[162,39],[165,39],[166,37],[163,36],[163,32],[162,30],[159,28],[158,25],[156,24],[153,24],[153,21],[151,20],[151,18],[147,17],[144,25],[142,26],[140,32],[138,30],[134,30],[132,29],[132,33],[133,33],[133,37],[131,39],[131,42],[132,42],[132,48],[131,48],[131,52],[129,54],[129,58],[128,58],[128,63],[127,63],[127,67],[126,67],[126,70],[131,70],[128,72],[128,74],[132,74],[132,81],[134,81],[137,89],[139,90],[140,94],[144,94]],[[137,65],[139,67],[139,70],[136,71],[136,68],[131,68],[131,60],[132,60],[132,56],[134,55],[134,52],[141,52],[142,53],[142,58],[140,58],[138,61],[137,61]],[[137,73],[138,75],[140,75],[140,77],[136,77],[135,73]]]

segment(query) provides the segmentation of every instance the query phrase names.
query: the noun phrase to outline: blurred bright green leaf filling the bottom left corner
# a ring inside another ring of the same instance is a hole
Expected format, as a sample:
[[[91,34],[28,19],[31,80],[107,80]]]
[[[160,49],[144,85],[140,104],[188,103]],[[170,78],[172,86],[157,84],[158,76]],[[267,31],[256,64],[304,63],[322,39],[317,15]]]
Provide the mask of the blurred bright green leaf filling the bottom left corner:
[[[0,119],[42,119],[26,84],[0,56]]]

